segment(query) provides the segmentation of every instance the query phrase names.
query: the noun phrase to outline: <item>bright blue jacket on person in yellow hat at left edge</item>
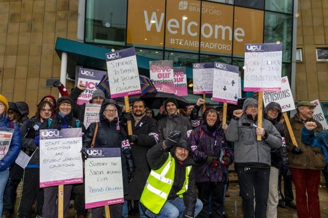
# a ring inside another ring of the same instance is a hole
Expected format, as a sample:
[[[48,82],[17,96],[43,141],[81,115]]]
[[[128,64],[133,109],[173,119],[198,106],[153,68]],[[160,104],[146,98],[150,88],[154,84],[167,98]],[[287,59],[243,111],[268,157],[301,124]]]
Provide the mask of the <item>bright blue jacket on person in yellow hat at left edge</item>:
[[[12,122],[14,127],[13,137],[10,142],[9,150],[5,157],[0,160],[0,171],[8,169],[8,167],[14,163],[19,151],[22,147],[21,133],[16,122]],[[11,125],[9,124],[9,116],[6,113],[0,115],[0,130],[9,131]]]

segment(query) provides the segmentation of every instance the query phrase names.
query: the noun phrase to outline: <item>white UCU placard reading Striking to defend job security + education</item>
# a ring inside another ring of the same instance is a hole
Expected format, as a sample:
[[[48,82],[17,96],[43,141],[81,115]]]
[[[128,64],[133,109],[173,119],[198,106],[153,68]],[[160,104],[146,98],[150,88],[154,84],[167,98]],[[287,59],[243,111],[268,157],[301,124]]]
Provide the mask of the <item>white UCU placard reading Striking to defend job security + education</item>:
[[[136,52],[133,47],[107,53],[106,61],[112,98],[141,93]]]

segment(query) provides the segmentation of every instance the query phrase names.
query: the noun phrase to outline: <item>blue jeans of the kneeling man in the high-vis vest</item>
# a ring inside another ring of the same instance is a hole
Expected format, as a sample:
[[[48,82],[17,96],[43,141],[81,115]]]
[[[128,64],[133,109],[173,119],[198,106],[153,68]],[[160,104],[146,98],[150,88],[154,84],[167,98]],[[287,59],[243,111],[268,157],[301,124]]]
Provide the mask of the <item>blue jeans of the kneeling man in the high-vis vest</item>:
[[[174,199],[167,200],[158,214],[151,212],[146,209],[145,213],[149,217],[158,217],[158,218],[182,218],[183,212],[185,211],[185,204],[183,198],[176,197]],[[197,198],[195,205],[195,214],[194,217],[198,215],[200,210],[203,208],[203,203]]]

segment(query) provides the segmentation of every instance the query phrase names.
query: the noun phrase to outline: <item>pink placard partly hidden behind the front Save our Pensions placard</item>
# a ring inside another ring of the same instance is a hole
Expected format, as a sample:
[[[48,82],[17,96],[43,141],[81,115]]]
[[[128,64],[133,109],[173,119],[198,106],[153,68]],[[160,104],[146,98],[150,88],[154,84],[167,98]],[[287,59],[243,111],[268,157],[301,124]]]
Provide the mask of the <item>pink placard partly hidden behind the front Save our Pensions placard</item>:
[[[188,96],[186,67],[173,67],[174,94],[177,96]]]

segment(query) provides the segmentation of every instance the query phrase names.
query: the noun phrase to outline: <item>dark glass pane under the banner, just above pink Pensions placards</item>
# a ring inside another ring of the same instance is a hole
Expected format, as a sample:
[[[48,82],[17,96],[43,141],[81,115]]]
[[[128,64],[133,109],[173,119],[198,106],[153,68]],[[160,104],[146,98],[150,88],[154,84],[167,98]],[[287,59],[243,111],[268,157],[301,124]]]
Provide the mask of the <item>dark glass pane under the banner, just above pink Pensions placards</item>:
[[[173,60],[173,64],[192,67],[192,63],[198,62],[198,54],[166,51],[164,59]]]

